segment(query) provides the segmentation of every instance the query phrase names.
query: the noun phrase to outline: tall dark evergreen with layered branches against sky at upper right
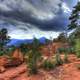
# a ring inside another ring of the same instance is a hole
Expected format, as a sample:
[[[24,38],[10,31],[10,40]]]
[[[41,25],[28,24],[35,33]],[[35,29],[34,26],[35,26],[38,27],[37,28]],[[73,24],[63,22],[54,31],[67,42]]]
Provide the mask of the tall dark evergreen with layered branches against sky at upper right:
[[[80,2],[73,8],[72,14],[69,18],[71,21],[69,24],[69,29],[73,29],[80,26]]]

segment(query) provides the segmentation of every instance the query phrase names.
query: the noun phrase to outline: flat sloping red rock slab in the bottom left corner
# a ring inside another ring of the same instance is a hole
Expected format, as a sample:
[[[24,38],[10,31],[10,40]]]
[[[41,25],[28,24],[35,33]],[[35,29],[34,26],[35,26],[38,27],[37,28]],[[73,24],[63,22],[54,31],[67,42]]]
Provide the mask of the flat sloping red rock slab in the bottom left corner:
[[[0,73],[0,80],[14,80],[27,71],[26,64],[19,65],[18,67],[7,68],[5,72]],[[21,80],[21,79],[18,79]]]

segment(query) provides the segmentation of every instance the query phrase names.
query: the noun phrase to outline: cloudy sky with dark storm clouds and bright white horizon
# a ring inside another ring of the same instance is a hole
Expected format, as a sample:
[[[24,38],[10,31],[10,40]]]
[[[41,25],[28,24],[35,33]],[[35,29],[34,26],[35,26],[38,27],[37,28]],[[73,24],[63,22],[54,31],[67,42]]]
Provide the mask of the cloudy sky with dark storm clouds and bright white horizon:
[[[78,0],[0,0],[0,29],[15,39],[56,38]]]

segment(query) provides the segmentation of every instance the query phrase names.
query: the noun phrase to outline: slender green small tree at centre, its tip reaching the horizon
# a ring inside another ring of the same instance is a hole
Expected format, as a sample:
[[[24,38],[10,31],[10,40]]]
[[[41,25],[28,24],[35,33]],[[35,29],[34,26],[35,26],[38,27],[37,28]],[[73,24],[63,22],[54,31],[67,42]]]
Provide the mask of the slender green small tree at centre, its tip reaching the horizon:
[[[36,74],[38,72],[38,62],[41,59],[41,53],[38,48],[39,41],[34,38],[31,53],[28,55],[28,67],[31,74]]]

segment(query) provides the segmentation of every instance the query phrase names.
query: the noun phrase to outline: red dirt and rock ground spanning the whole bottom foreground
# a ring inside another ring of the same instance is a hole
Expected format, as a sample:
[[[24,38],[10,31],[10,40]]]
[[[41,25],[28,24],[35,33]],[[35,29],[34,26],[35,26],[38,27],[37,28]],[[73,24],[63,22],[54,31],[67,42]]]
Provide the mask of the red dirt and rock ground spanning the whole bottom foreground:
[[[69,55],[70,63],[63,64],[51,71],[39,70],[37,75],[28,75],[26,64],[15,68],[8,68],[0,73],[0,80],[80,80],[80,70],[77,64],[80,60],[74,55]]]

